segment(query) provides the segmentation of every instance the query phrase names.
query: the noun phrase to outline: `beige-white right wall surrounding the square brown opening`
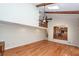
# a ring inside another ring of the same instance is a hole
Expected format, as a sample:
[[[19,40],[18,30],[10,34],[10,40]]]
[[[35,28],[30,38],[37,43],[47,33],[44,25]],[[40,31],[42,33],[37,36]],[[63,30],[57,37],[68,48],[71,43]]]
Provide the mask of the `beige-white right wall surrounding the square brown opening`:
[[[48,14],[48,16],[53,19],[48,24],[48,40],[79,46],[79,14]],[[68,27],[68,41],[53,39],[54,26]]]

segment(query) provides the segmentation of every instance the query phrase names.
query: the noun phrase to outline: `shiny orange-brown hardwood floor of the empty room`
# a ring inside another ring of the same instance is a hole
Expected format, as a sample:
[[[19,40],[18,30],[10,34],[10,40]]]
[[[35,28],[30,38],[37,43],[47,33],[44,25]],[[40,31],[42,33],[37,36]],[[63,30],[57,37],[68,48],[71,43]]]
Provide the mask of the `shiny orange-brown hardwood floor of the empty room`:
[[[79,48],[50,41],[39,41],[6,50],[5,56],[79,56]]]

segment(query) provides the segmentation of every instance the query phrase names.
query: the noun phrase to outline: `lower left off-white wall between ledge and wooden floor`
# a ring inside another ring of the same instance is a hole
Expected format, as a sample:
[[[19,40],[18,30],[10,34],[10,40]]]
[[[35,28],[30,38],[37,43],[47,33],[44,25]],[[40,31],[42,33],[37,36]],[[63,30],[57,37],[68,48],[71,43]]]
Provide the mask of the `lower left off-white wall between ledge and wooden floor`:
[[[0,21],[0,41],[6,49],[46,39],[45,30]]]

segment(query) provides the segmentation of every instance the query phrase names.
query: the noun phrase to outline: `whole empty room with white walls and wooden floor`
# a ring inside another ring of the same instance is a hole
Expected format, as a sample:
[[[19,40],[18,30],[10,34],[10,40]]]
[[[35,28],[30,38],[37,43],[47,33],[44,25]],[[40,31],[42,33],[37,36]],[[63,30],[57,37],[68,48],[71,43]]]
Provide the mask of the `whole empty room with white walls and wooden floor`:
[[[0,56],[79,56],[79,3],[0,3]]]

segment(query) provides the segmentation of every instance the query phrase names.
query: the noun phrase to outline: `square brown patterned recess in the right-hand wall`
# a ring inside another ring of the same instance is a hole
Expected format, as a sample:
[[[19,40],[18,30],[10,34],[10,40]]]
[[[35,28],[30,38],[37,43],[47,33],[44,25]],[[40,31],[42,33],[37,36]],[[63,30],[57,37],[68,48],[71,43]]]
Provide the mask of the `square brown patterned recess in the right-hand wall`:
[[[54,26],[54,39],[59,40],[68,40],[68,28],[67,27],[61,27],[61,26]]]

